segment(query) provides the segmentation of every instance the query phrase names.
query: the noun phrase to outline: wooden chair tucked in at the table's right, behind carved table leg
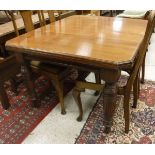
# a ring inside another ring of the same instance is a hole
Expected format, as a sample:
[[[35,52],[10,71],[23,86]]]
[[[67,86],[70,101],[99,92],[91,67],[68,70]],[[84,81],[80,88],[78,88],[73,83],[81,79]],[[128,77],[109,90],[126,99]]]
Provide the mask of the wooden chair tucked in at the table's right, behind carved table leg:
[[[130,70],[130,76],[127,80],[127,84],[123,87],[118,87],[118,94],[124,96],[124,118],[125,118],[125,133],[129,132],[129,123],[130,123],[130,105],[129,105],[129,100],[130,100],[130,93],[133,87],[133,92],[134,92],[134,103],[133,107],[137,106],[137,99],[138,99],[138,87],[139,87],[139,70],[140,67],[142,66],[142,63],[145,58],[146,54],[146,49],[148,42],[150,40],[150,33],[152,32],[153,25],[155,23],[155,12],[152,11],[149,14],[148,17],[148,24],[147,24],[147,29],[145,32],[144,40],[143,43],[139,49],[139,54],[136,58],[135,64],[133,68]],[[104,75],[103,75],[104,76]],[[94,83],[86,83],[86,82],[81,82],[77,81],[76,86],[73,90],[73,96],[75,99],[75,102],[78,105],[79,108],[79,117],[77,118],[78,121],[82,120],[83,117],[83,110],[82,110],[82,104],[81,104],[81,98],[80,98],[80,92],[83,91],[85,88],[87,89],[93,89],[93,90],[98,90],[102,91],[104,89],[104,85],[100,84],[94,84]]]

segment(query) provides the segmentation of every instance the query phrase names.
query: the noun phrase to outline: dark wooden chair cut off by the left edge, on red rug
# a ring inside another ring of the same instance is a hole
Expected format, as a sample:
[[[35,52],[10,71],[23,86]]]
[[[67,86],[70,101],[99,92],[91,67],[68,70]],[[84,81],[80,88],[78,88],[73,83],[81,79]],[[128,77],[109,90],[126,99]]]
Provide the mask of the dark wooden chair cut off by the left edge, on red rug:
[[[21,66],[17,63],[15,56],[10,56],[5,59],[0,57],[0,101],[4,109],[8,109],[10,106],[4,83],[9,80],[12,91],[17,94],[17,85],[14,78],[20,73],[20,69]]]

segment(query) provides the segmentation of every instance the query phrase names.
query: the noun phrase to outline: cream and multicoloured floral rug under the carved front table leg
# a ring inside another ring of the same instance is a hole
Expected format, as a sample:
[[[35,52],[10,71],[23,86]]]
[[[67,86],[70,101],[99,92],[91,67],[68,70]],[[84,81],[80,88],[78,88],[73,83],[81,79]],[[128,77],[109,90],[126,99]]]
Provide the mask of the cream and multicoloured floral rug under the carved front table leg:
[[[90,113],[77,144],[155,144],[155,82],[146,81],[141,85],[140,98],[136,109],[131,108],[131,123],[128,134],[124,132],[123,97],[118,96],[112,131],[103,133],[102,95]],[[131,95],[131,105],[133,97]]]

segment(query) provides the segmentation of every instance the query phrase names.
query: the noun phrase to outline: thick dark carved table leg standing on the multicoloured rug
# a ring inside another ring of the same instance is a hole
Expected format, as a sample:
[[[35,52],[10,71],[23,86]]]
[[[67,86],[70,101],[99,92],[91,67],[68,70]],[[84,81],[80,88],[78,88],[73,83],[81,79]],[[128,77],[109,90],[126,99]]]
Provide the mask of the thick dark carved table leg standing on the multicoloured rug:
[[[101,78],[105,81],[103,90],[104,104],[104,126],[105,133],[109,133],[112,126],[113,115],[115,112],[116,97],[117,97],[117,81],[121,75],[120,70],[103,70]]]

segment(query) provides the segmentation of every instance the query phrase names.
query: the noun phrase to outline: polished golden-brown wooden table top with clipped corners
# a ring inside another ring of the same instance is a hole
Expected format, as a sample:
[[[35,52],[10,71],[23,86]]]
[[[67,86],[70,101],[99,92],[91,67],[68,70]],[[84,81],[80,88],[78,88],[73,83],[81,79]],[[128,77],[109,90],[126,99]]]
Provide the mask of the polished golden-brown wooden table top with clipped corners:
[[[75,15],[9,40],[6,48],[118,67],[133,62],[146,26],[146,20]]]

